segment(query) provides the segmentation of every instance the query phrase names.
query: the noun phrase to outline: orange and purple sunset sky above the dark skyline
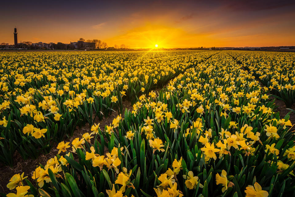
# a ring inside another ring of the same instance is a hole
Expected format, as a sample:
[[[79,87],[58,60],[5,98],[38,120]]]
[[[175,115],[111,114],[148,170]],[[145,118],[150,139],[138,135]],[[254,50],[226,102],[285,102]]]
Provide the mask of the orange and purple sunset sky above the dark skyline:
[[[76,42],[108,46],[294,46],[295,1],[4,1],[0,43]]]

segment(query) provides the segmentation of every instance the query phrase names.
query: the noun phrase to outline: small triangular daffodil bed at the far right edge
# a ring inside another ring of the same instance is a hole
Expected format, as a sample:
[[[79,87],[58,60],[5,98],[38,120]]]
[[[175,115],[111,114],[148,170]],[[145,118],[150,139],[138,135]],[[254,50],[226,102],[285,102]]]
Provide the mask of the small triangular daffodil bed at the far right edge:
[[[232,56],[266,86],[287,107],[295,103],[295,70],[293,53],[232,52]]]

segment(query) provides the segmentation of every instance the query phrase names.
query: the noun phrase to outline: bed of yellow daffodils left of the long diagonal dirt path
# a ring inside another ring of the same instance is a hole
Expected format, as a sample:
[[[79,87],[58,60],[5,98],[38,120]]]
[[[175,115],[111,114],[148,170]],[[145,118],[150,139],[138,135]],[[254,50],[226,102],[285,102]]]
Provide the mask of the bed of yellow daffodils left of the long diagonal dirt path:
[[[161,87],[215,52],[2,53],[0,162],[12,166]],[[143,58],[144,57],[144,58]],[[140,65],[140,66],[139,66]]]

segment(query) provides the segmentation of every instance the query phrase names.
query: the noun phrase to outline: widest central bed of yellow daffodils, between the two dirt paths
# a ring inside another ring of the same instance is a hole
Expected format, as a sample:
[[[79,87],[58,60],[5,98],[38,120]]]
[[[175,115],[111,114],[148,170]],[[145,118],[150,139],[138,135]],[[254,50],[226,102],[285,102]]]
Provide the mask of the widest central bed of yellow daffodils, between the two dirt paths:
[[[214,54],[104,129],[60,142],[58,155],[7,187],[22,196],[293,195],[293,125],[269,96],[231,55]]]

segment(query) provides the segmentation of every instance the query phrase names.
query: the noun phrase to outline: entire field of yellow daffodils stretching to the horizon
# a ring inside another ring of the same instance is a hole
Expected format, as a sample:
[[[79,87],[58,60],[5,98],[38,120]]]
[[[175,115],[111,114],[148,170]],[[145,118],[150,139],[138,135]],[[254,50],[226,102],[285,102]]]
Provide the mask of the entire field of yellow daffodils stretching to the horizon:
[[[295,195],[295,111],[275,112],[276,99],[295,103],[294,53],[0,57],[0,163],[58,150],[11,177],[3,196]],[[115,111],[110,125],[96,124]]]

